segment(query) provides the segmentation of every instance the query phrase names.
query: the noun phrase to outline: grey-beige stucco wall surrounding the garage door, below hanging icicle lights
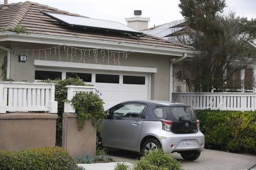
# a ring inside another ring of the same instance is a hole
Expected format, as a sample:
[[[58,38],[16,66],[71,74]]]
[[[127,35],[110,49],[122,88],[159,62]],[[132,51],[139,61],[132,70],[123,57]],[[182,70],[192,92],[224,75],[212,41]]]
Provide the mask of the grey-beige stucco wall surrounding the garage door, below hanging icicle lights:
[[[43,45],[43,44],[25,44],[12,42],[11,46],[13,49],[43,49],[49,48],[51,46]],[[71,53],[71,52],[70,52]],[[65,62],[82,62],[80,61],[81,53],[79,50],[76,51],[76,56],[72,58],[67,57],[67,53],[64,52],[64,49],[61,49],[61,60]],[[74,52],[73,52],[74,53]],[[26,54],[26,51],[18,52],[18,54]],[[35,66],[34,59],[47,59],[48,61],[59,61],[59,55],[54,53],[52,50],[51,55],[49,55],[49,50],[47,51],[47,56],[45,55],[44,50],[40,51],[40,56],[38,54],[34,54],[34,58],[32,56],[32,52],[28,52],[28,61],[27,62],[19,62],[18,54],[11,54],[11,79],[14,80],[27,80],[34,81],[35,79]],[[117,54],[116,54],[117,55]],[[118,56],[115,56],[116,65]],[[94,61],[94,56],[92,52],[90,53],[90,57],[86,54],[85,58],[86,63],[96,63]],[[114,65],[113,57],[109,59],[109,65]],[[137,67],[155,67],[157,68],[157,73],[151,75],[151,99],[154,100],[169,100],[169,73],[170,73],[170,56],[164,55],[156,55],[156,54],[146,54],[146,53],[130,53],[127,58],[123,58],[120,56],[120,65],[121,66],[137,66]],[[102,61],[102,56],[100,53],[97,57],[97,63],[108,65],[108,57],[105,57],[104,61]],[[74,69],[75,70],[75,69]],[[81,71],[81,69],[80,69]]]

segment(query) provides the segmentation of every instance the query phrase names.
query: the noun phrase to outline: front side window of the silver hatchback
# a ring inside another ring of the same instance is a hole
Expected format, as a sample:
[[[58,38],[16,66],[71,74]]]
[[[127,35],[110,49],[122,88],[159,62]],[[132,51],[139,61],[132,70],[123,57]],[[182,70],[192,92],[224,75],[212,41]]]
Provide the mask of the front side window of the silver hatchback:
[[[113,110],[113,118],[141,118],[142,113],[146,105],[141,103],[129,103],[123,104],[120,107]]]

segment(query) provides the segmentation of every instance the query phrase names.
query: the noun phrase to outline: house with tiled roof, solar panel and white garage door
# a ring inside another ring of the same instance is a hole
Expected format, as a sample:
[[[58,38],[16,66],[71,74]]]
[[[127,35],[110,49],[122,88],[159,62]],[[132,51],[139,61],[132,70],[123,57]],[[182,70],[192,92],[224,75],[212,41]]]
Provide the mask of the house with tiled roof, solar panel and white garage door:
[[[7,79],[77,75],[97,87],[105,109],[125,100],[171,99],[170,63],[174,58],[193,57],[192,46],[115,22],[89,19],[85,23],[84,19],[34,2],[1,5],[0,63],[7,56]],[[27,33],[17,33],[23,27]],[[20,29],[13,32],[13,28]]]

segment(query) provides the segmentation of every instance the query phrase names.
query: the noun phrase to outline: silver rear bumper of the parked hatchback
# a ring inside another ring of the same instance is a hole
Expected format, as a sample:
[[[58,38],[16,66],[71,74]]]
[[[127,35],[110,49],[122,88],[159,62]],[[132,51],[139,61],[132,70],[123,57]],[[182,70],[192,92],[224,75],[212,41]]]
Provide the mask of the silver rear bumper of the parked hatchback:
[[[174,134],[168,131],[160,131],[160,142],[164,152],[181,152],[189,150],[204,150],[204,134],[201,131],[191,134]],[[185,146],[189,142],[192,146]]]

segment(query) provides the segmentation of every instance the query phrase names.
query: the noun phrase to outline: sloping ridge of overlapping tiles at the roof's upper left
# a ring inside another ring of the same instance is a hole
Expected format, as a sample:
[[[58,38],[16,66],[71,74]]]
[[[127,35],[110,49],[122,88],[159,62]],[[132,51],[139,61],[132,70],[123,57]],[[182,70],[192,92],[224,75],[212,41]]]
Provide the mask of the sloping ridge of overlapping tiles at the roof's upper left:
[[[13,17],[13,19],[6,25],[5,28],[15,28],[22,21],[27,11],[30,9],[32,3],[30,1],[26,1],[22,4],[22,7],[19,8],[17,14]]]

